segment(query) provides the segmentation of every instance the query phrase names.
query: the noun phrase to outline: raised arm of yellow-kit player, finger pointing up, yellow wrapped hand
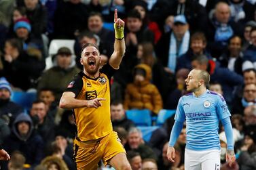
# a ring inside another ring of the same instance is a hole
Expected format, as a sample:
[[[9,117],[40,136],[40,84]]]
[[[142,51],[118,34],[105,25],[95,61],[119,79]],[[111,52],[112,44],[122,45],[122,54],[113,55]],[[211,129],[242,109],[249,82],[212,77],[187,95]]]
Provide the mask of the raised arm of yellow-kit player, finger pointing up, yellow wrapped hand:
[[[120,18],[117,18],[117,9],[115,9],[114,16],[114,28],[115,28],[115,43],[114,43],[114,51],[109,58],[109,64],[113,68],[119,68],[120,63],[122,62],[122,58],[126,51],[126,45],[124,42],[124,21]]]

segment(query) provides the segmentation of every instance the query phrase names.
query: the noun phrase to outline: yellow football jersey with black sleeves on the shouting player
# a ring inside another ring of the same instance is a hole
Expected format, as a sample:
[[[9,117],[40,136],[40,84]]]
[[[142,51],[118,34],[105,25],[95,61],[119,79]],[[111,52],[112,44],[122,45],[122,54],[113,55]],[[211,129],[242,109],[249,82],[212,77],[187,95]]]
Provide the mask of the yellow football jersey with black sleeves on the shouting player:
[[[77,137],[81,141],[96,140],[113,131],[110,113],[110,80],[115,72],[109,64],[103,66],[99,77],[92,79],[79,72],[69,83],[66,91],[75,93],[78,100],[105,98],[98,108],[74,108],[73,116],[77,126]]]

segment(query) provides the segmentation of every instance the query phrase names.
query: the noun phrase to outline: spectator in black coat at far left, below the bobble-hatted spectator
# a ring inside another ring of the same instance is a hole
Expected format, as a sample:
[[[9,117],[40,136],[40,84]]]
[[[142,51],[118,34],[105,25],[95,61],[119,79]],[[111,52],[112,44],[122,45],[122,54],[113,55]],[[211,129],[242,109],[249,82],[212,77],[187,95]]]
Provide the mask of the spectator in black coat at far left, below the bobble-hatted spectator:
[[[24,28],[20,29],[24,30]],[[5,41],[5,56],[1,74],[12,86],[22,90],[35,87],[37,79],[44,68],[45,62],[38,49],[30,48],[24,51],[22,43],[18,39]]]

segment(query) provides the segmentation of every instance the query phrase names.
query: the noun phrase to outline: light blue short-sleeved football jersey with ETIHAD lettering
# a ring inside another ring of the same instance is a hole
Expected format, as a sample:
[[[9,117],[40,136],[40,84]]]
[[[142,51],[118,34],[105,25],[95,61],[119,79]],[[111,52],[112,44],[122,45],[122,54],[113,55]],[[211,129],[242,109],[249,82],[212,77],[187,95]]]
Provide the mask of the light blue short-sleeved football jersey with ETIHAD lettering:
[[[198,97],[193,93],[183,95],[177,106],[175,120],[186,121],[187,149],[219,150],[219,121],[229,116],[231,114],[222,95],[206,90]]]

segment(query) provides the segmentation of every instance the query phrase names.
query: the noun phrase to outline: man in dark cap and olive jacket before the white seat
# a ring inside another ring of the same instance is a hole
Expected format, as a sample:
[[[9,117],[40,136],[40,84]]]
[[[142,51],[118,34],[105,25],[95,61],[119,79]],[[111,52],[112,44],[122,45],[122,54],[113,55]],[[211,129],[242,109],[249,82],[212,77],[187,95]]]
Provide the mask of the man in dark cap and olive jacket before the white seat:
[[[54,67],[43,72],[37,89],[52,89],[55,94],[56,101],[65,91],[69,80],[73,78],[80,70],[75,66],[75,58],[71,56],[71,50],[67,47],[60,47],[57,54],[53,58]]]

